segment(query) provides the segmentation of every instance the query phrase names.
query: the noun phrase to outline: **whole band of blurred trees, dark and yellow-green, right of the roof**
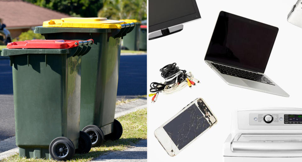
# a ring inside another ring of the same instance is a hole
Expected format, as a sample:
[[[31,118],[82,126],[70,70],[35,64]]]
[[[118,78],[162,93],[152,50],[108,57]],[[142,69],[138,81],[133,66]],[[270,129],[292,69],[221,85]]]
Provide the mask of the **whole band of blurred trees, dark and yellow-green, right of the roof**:
[[[72,17],[147,19],[147,0],[25,0]]]

